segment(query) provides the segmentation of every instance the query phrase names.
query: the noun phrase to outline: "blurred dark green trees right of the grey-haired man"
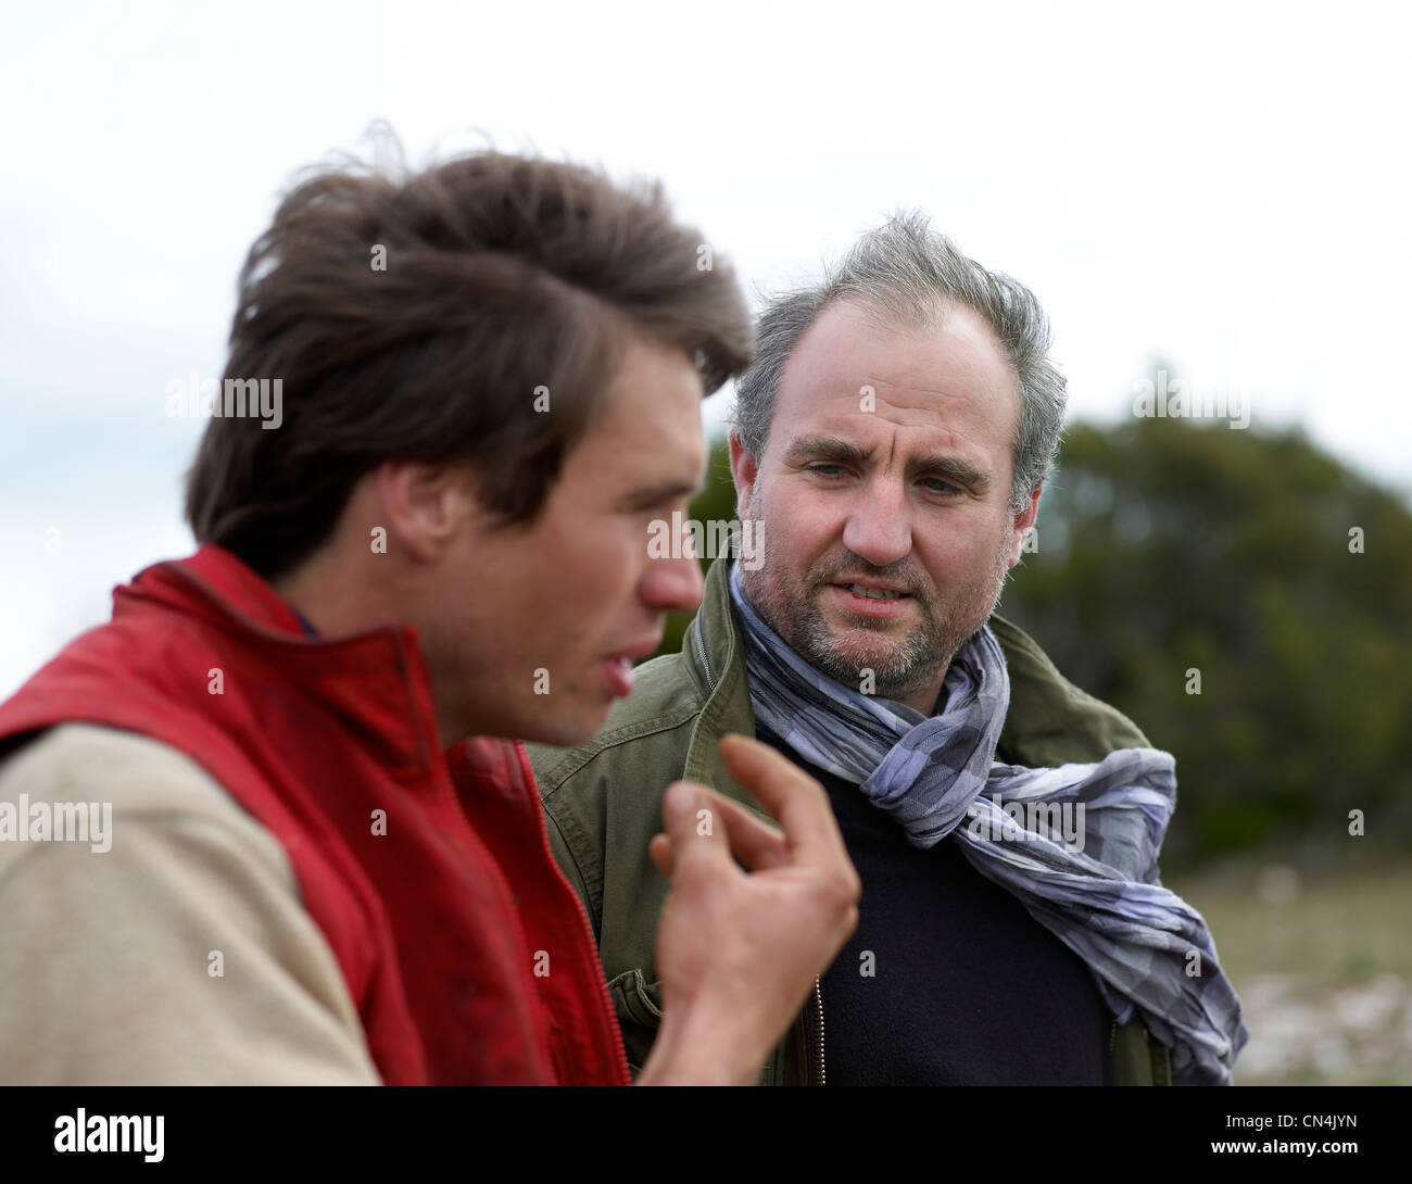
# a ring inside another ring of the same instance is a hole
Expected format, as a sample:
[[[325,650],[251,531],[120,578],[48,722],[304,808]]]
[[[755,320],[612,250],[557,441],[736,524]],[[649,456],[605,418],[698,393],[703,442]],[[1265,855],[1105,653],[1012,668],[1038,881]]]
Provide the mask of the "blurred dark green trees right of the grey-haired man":
[[[1409,592],[1406,506],[1300,432],[1142,418],[1070,431],[1001,612],[1176,756],[1169,862],[1320,859],[1412,835]]]

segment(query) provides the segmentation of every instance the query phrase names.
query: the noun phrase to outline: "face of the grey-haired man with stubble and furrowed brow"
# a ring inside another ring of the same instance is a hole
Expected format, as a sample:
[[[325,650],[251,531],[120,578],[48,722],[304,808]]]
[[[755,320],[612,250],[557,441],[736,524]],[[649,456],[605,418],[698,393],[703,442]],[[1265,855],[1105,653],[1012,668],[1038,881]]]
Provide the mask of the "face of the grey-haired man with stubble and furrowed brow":
[[[731,434],[740,516],[764,540],[743,571],[751,602],[833,678],[863,689],[871,671],[877,694],[932,715],[1035,523],[1039,489],[1011,504],[1018,415],[1014,370],[971,309],[922,328],[825,309],[785,365],[761,455]]]

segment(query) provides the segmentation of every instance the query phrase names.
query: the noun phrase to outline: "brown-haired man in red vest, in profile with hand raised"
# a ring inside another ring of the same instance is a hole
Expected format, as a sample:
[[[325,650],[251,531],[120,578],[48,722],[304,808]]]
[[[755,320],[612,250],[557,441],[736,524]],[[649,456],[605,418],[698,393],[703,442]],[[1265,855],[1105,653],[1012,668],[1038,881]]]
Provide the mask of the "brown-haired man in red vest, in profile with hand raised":
[[[699,243],[657,189],[491,153],[284,201],[201,550],[0,706],[6,1081],[628,1081],[524,747],[476,738],[587,738],[700,598],[642,545],[751,348]],[[818,783],[719,756],[784,832],[664,803],[644,1082],[753,1079],[856,923]]]

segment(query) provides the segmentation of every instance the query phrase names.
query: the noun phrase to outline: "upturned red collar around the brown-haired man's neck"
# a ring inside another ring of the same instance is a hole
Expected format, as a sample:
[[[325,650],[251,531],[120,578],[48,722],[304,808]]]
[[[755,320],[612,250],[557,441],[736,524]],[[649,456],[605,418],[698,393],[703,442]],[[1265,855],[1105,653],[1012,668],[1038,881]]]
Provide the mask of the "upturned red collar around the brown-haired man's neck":
[[[271,673],[336,715],[398,780],[424,777],[439,760],[431,678],[415,629],[388,623],[350,637],[311,637],[274,588],[210,544],[186,560],[154,564],[113,592],[114,620],[148,606],[233,634]]]

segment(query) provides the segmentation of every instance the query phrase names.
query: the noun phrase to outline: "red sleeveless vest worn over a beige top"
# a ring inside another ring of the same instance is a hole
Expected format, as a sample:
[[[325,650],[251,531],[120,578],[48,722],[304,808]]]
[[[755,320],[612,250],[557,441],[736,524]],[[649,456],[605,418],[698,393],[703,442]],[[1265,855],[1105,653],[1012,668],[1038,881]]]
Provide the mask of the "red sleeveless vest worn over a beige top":
[[[415,630],[309,637],[203,547],[117,588],[0,706],[0,753],[69,721],[179,749],[280,839],[388,1085],[628,1084],[524,746],[441,750]]]

